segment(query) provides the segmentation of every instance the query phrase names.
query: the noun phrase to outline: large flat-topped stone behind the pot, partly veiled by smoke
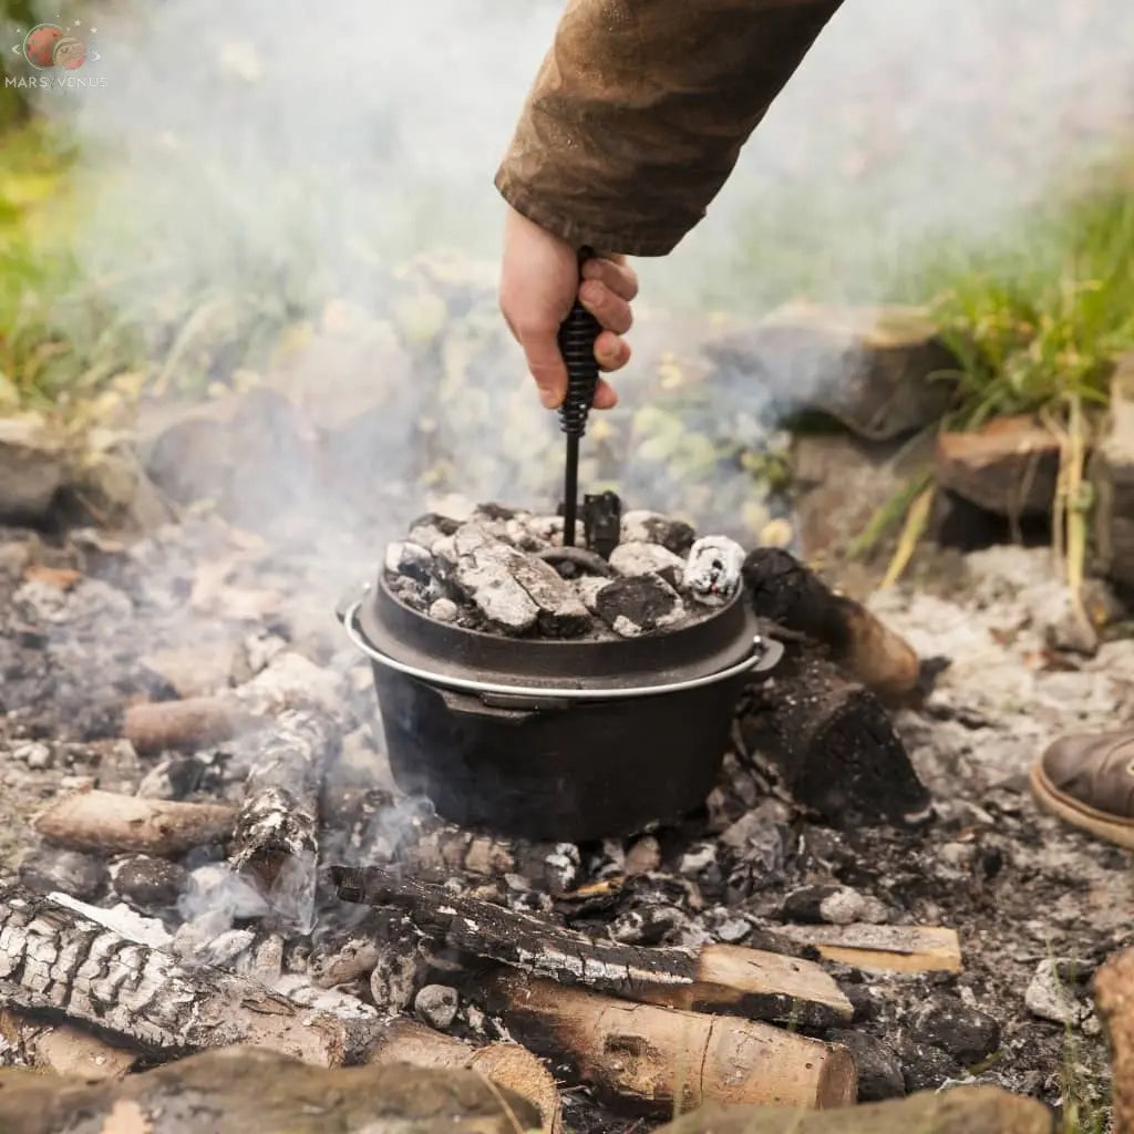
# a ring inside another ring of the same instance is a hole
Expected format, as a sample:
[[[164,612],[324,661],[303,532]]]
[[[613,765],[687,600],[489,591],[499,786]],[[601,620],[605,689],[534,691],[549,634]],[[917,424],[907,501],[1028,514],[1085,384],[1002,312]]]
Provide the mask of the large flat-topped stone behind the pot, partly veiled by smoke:
[[[957,361],[911,306],[792,303],[706,347],[719,380],[739,373],[795,409],[871,441],[915,433],[948,408]]]

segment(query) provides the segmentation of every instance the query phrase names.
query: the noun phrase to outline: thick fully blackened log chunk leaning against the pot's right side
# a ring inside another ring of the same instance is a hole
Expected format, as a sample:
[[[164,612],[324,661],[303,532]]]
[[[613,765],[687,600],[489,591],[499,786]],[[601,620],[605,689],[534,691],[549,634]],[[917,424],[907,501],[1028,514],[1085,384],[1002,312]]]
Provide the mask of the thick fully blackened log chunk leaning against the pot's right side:
[[[835,826],[906,823],[930,796],[881,701],[833,663],[789,651],[737,717],[747,755],[775,765],[795,801]]]

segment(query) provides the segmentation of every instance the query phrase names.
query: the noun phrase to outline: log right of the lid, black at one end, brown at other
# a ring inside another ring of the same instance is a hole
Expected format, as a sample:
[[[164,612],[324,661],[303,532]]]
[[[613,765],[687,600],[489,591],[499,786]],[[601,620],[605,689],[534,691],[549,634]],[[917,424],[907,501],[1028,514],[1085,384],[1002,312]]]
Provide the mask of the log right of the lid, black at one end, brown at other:
[[[758,548],[744,560],[756,615],[826,646],[832,661],[880,696],[902,697],[921,682],[913,646],[861,602],[836,594],[781,548]]]

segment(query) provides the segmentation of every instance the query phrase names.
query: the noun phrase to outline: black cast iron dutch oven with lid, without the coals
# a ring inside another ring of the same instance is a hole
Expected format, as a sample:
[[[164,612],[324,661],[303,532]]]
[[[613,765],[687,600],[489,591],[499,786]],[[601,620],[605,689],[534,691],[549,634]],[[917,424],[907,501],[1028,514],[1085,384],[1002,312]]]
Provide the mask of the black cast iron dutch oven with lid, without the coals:
[[[531,839],[632,835],[699,806],[741,691],[784,652],[743,592],[669,633],[599,642],[438,623],[381,570],[338,613],[371,659],[398,787],[452,822]]]

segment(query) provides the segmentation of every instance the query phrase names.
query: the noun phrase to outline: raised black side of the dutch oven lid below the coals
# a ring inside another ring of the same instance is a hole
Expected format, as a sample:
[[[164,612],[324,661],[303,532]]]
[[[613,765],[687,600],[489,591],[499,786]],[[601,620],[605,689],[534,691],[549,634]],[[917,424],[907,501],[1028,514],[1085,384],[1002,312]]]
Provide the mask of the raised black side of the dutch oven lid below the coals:
[[[743,661],[758,635],[741,589],[712,613],[663,634],[609,641],[503,637],[413,610],[390,591],[381,569],[358,607],[358,624],[376,650],[442,679],[548,689],[635,688],[705,677]]]

